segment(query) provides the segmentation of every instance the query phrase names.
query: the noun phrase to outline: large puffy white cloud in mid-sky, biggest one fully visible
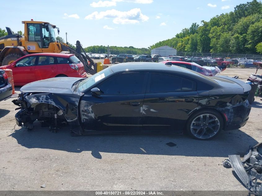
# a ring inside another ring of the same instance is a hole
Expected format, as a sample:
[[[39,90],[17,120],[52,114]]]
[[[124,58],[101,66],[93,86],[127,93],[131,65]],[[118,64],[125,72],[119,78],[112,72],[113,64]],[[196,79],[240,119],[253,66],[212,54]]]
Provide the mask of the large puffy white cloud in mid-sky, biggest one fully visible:
[[[100,20],[103,18],[113,18],[115,24],[136,24],[148,21],[149,17],[142,14],[140,8],[134,8],[129,11],[118,11],[115,9],[93,12],[85,17],[86,20]]]

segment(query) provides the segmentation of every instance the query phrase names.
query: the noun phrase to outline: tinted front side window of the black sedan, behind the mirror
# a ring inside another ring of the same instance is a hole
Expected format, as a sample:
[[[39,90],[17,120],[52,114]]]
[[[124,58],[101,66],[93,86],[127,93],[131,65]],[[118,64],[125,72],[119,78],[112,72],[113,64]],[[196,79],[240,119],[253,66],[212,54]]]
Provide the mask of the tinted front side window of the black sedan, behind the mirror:
[[[142,94],[145,73],[123,73],[109,78],[97,88],[104,95]]]

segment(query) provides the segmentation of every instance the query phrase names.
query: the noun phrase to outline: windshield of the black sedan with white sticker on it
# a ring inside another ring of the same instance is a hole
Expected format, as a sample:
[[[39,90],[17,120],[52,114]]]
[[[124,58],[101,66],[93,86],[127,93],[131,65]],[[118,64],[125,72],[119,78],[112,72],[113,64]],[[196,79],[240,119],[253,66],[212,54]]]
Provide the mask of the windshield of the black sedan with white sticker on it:
[[[111,75],[113,72],[110,68],[106,68],[95,75],[91,76],[90,78],[87,78],[83,81],[81,81],[78,84],[77,92],[82,92],[86,89],[88,89],[90,86],[94,85],[96,82],[100,81],[101,79],[108,77]]]

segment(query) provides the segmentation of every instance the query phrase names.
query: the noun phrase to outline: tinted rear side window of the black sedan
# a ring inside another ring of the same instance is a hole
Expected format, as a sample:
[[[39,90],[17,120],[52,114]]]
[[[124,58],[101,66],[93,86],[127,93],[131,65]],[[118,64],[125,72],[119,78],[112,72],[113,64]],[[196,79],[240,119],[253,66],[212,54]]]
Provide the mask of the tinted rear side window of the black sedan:
[[[165,74],[151,74],[149,93],[196,91],[196,82]]]

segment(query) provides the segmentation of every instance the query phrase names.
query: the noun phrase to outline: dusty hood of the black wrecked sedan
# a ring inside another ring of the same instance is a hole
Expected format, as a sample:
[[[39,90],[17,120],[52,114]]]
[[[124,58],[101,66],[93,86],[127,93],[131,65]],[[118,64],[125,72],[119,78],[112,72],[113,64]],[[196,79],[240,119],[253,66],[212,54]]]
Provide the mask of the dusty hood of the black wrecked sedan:
[[[72,86],[75,82],[83,80],[76,77],[55,77],[46,80],[39,80],[24,85],[20,91],[22,93],[62,93],[72,94]]]

